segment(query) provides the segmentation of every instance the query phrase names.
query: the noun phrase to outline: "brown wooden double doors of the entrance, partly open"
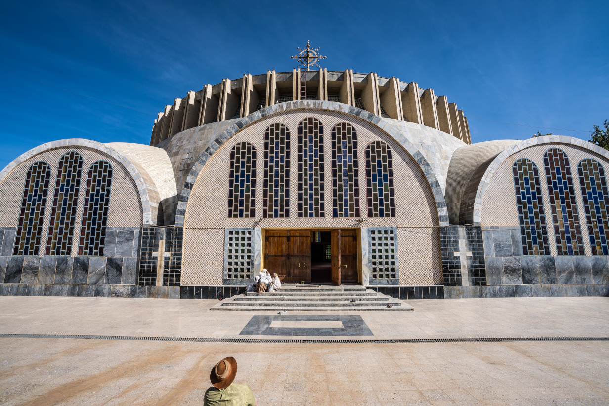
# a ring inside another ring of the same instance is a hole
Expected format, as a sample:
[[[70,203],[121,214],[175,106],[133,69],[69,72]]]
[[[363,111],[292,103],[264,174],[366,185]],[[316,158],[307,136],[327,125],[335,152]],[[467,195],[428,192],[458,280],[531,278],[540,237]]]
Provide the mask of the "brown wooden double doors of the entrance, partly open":
[[[283,282],[311,282],[311,231],[266,230],[264,267]],[[331,231],[332,283],[357,282],[357,231]]]

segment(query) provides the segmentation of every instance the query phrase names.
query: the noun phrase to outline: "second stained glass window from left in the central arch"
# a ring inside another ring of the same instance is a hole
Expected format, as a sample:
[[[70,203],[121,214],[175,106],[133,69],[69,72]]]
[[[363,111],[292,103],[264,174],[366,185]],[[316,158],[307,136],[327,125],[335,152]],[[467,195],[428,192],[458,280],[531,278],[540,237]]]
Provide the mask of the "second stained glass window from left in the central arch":
[[[290,131],[279,123],[264,132],[262,217],[290,217]]]

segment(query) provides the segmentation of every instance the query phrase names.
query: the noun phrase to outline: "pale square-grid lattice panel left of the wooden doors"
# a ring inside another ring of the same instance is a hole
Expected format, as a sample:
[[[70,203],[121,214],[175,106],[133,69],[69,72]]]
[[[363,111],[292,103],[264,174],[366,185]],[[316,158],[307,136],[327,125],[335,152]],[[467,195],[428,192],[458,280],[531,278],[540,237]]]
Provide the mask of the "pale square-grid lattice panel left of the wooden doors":
[[[224,279],[237,279],[247,285],[255,276],[252,232],[253,228],[224,231]]]

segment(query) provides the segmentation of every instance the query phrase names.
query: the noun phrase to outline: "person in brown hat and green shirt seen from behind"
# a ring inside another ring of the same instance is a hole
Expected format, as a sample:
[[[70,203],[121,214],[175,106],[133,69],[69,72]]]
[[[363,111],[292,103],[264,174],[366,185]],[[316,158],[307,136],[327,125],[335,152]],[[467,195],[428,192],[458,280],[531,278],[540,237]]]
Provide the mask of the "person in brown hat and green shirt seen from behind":
[[[226,357],[214,365],[209,374],[213,387],[205,391],[203,406],[257,406],[258,402],[248,385],[233,383],[237,375],[237,360]]]

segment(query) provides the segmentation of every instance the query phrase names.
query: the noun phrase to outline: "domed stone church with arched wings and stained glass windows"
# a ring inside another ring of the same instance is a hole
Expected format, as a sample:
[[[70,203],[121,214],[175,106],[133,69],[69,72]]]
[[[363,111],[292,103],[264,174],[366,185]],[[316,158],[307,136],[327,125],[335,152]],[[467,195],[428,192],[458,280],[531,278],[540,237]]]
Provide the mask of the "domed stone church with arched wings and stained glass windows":
[[[0,295],[228,298],[267,268],[402,299],[609,296],[607,150],[472,144],[434,89],[310,67],[189,91],[150,145],[16,157]]]

